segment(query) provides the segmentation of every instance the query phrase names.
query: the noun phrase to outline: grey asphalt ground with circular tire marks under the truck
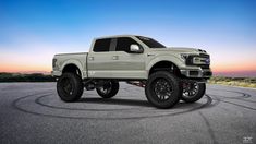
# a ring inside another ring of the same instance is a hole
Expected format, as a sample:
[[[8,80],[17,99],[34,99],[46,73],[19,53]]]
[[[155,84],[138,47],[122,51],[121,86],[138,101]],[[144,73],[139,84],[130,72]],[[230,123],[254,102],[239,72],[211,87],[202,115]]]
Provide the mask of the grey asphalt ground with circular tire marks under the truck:
[[[9,143],[256,143],[256,91],[207,85],[197,103],[162,110],[125,83],[112,99],[85,91],[69,104],[56,83],[1,83],[0,144]]]

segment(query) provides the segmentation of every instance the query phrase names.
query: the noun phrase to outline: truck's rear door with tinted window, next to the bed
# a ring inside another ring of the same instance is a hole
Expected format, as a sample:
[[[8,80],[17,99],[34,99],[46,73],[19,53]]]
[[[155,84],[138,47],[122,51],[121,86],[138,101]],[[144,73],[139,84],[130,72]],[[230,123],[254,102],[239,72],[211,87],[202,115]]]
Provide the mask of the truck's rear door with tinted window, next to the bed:
[[[97,39],[93,50],[88,53],[87,69],[89,77],[111,77],[111,60],[110,51],[111,38]]]

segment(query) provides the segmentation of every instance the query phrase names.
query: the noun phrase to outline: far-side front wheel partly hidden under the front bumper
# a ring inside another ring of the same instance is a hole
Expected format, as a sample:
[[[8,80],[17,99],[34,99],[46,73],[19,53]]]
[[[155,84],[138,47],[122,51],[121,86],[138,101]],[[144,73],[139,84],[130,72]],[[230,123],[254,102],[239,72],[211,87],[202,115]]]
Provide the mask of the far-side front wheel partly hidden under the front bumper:
[[[206,91],[205,83],[184,81],[182,83],[182,96],[181,99],[186,103],[195,103],[199,100]]]

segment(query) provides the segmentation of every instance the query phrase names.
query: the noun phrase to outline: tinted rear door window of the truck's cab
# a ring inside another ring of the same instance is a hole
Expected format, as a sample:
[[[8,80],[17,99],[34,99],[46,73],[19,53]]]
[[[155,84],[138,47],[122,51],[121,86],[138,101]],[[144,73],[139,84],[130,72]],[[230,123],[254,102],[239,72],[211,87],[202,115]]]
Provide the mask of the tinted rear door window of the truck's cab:
[[[111,40],[110,38],[96,40],[94,45],[94,51],[95,52],[109,51],[110,40]]]

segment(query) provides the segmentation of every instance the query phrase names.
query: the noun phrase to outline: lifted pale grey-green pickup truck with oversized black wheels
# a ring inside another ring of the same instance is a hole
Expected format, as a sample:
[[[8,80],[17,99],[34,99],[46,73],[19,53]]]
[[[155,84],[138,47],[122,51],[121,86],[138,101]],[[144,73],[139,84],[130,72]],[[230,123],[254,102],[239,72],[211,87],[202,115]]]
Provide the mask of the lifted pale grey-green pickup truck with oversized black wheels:
[[[119,91],[119,82],[145,87],[150,104],[170,108],[180,99],[194,103],[211,76],[209,55],[195,48],[167,48],[153,38],[119,35],[96,38],[89,52],[56,55],[52,75],[64,101],[78,100],[84,87],[102,98]]]

